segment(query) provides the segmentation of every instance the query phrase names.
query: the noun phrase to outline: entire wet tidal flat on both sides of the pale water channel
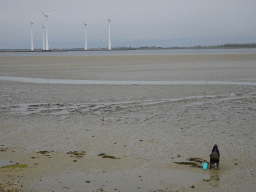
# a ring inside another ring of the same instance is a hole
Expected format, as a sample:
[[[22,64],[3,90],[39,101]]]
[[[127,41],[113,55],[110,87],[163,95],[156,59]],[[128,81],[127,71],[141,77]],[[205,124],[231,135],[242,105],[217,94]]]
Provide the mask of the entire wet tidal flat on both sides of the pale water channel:
[[[0,57],[0,75],[255,82],[256,55]],[[21,191],[255,191],[255,85],[0,81],[0,183]],[[178,165],[221,153],[219,170]],[[49,153],[40,154],[38,151]],[[69,151],[85,151],[80,156]],[[116,159],[98,156],[105,153]],[[10,162],[12,161],[12,162]],[[203,181],[210,179],[210,181]],[[194,186],[194,188],[191,188]]]

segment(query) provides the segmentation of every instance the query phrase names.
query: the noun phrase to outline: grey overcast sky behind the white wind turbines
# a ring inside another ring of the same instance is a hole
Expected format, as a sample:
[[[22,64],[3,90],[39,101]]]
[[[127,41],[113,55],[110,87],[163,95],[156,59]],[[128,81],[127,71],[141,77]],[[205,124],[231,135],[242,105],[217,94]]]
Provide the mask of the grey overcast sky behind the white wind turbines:
[[[44,13],[49,48],[196,46],[256,43],[255,0],[0,0],[0,49],[42,48]]]

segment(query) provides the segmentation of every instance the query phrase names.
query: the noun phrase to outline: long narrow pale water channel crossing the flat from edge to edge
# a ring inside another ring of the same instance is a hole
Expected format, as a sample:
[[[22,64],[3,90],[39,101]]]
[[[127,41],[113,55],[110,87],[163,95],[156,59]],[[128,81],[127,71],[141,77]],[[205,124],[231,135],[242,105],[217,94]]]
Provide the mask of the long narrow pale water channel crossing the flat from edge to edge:
[[[23,83],[66,84],[66,85],[256,85],[256,82],[230,81],[104,81],[104,80],[72,80],[43,79],[29,77],[0,76],[0,80]]]

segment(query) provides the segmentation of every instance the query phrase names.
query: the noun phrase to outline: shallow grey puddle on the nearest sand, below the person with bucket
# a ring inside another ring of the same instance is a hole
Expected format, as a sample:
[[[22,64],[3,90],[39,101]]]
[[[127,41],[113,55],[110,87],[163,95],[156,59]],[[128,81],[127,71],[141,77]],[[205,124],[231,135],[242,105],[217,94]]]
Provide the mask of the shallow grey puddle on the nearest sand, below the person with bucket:
[[[118,172],[101,169],[88,169],[79,172],[66,172],[57,177],[41,179],[35,189],[48,191],[152,191],[157,189],[178,190],[190,188],[205,177],[203,173],[190,173],[179,170],[149,171],[137,168]]]

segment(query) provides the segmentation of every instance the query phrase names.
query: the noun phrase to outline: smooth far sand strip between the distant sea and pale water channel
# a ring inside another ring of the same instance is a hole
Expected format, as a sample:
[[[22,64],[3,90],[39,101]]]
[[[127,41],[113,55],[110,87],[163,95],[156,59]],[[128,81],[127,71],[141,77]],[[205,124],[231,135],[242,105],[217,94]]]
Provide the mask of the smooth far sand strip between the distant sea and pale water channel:
[[[118,81],[254,78],[256,54],[0,57],[0,75]]]

